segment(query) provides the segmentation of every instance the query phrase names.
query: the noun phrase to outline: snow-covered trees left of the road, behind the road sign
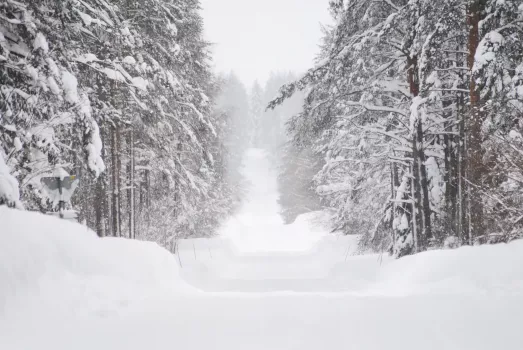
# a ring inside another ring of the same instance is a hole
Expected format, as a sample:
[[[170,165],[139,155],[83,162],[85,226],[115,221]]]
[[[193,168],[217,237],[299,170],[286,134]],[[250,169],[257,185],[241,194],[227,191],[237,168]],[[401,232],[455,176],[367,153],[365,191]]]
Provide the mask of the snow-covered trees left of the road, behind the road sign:
[[[210,235],[234,208],[234,131],[216,107],[198,0],[0,1],[0,204],[52,211],[41,178],[80,178],[99,236]]]

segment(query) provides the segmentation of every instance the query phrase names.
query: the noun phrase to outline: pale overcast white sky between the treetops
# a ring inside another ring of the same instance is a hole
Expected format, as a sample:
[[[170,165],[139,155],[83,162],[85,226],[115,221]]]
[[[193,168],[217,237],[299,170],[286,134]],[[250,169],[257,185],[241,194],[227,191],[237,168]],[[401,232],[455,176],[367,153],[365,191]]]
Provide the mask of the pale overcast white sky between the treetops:
[[[233,70],[250,86],[271,71],[302,73],[313,64],[329,23],[328,0],[201,0],[218,71]]]

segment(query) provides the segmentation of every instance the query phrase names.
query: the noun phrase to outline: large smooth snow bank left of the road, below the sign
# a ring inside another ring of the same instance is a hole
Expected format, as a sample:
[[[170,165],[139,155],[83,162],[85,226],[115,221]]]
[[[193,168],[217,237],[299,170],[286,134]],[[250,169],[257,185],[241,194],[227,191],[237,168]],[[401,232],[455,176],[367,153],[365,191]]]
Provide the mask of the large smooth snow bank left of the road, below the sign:
[[[4,206],[0,223],[0,315],[106,314],[191,289],[175,258],[154,243],[100,239],[85,226]]]

